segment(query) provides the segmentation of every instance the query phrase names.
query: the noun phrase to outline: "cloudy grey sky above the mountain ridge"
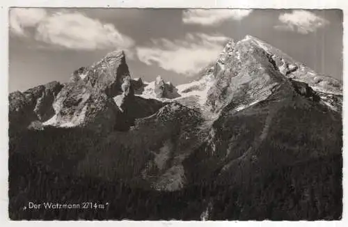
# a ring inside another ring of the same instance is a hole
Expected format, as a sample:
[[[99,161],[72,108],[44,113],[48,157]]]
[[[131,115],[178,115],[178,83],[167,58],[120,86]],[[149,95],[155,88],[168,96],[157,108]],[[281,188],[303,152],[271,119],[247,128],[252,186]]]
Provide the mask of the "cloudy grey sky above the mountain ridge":
[[[132,77],[184,84],[228,40],[246,35],[342,80],[342,17],[340,10],[12,8],[8,88],[68,81],[116,49]]]

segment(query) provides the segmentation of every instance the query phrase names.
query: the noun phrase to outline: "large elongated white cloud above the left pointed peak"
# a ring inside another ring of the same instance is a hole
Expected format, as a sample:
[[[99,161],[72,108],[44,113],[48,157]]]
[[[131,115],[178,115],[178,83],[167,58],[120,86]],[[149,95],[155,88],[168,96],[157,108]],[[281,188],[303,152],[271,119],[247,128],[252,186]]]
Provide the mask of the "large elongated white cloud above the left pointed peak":
[[[113,24],[102,24],[80,13],[56,13],[48,17],[38,25],[35,38],[70,49],[127,49],[134,45]]]

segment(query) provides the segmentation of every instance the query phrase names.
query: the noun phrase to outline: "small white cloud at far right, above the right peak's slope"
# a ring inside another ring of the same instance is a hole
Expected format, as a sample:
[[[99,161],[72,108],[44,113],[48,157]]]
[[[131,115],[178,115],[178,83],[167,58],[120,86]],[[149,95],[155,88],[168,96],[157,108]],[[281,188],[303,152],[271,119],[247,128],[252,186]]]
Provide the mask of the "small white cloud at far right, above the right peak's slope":
[[[306,10],[293,10],[292,13],[283,13],[279,16],[282,24],[274,26],[275,29],[283,31],[297,31],[301,34],[308,34],[320,27],[330,24],[322,17]]]

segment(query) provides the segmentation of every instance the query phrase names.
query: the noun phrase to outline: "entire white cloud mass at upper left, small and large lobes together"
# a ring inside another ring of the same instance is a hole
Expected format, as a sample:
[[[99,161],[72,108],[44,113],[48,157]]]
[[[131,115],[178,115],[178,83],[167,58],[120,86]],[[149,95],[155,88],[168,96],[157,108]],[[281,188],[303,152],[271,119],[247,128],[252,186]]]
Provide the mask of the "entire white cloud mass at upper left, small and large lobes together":
[[[41,9],[17,8],[11,10],[10,28],[22,36],[26,27],[34,27],[35,40],[68,49],[129,49],[134,40],[120,33],[113,24],[104,24],[97,19],[68,10],[47,13]],[[35,16],[37,15],[37,16]]]

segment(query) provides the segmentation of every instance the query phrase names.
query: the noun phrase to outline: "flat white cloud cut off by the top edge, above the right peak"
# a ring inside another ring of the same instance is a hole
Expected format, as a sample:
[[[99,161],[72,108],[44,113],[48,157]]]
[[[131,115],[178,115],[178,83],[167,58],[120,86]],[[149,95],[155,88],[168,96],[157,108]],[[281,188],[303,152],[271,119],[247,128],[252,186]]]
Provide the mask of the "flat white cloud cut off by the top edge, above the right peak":
[[[241,20],[253,10],[244,9],[195,9],[185,10],[182,22],[185,24],[215,25],[228,19]]]

